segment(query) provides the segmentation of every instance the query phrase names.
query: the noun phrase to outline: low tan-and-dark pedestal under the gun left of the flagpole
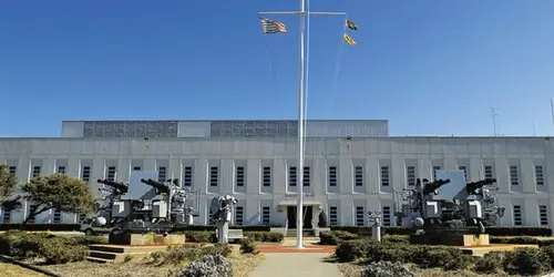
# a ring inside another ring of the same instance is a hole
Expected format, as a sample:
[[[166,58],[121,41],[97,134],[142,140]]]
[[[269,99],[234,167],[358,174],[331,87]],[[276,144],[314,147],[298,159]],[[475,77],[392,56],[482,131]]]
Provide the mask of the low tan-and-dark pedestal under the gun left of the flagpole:
[[[185,235],[179,234],[110,234],[109,244],[111,245],[184,245]]]

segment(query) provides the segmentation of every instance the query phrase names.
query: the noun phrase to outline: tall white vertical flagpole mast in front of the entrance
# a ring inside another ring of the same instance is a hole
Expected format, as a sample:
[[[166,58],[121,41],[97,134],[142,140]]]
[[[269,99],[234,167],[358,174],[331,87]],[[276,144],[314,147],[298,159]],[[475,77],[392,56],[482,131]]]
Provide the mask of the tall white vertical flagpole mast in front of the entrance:
[[[298,183],[297,183],[297,204],[296,204],[296,248],[304,248],[302,244],[302,223],[304,223],[304,81],[305,81],[305,24],[306,24],[306,0],[300,0],[300,76],[298,88]]]

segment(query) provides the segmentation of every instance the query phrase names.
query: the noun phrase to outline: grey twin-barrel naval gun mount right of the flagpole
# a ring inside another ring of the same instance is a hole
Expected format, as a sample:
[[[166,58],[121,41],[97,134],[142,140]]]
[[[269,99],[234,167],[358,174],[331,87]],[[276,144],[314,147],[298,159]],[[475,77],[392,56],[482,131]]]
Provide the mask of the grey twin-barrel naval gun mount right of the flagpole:
[[[396,216],[418,234],[483,234],[503,216],[493,186],[496,179],[466,183],[462,171],[437,171],[437,181],[418,179],[402,194]],[[396,198],[400,198],[396,196]]]

